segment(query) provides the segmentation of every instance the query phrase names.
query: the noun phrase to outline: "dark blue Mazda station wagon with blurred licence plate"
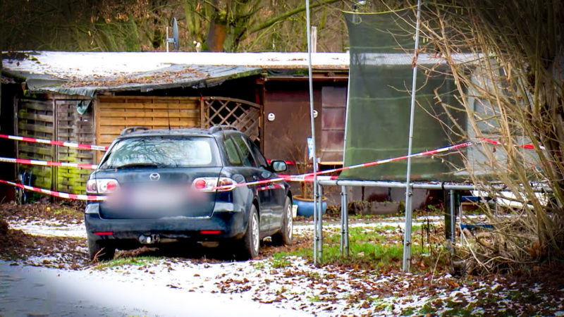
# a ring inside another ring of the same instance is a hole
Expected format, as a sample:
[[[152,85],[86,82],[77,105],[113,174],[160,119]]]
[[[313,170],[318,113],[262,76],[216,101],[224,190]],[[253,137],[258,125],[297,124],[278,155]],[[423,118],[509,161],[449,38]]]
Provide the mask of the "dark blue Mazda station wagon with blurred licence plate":
[[[128,128],[90,175],[85,224],[90,259],[111,259],[116,248],[166,242],[232,242],[252,259],[271,236],[292,243],[292,194],[277,178],[283,161],[267,163],[235,128]],[[202,243],[204,244],[204,243]]]

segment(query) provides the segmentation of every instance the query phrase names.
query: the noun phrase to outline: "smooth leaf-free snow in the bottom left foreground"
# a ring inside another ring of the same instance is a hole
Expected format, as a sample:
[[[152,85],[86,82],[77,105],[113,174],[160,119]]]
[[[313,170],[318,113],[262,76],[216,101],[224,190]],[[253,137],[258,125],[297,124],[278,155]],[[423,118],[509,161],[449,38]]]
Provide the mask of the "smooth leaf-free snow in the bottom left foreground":
[[[174,288],[166,284],[166,277],[137,275],[10,266],[0,261],[0,315],[306,316],[228,294]]]

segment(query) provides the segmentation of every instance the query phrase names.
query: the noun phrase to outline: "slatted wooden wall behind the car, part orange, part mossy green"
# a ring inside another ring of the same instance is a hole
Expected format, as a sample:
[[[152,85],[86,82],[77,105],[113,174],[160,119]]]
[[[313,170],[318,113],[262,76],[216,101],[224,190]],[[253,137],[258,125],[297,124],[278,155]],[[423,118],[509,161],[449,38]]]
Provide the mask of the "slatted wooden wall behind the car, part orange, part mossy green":
[[[250,135],[259,134],[259,105],[245,104],[239,99],[99,96],[82,115],[76,110],[79,101],[90,102],[90,99],[72,99],[63,95],[20,99],[16,102],[15,134],[102,146],[109,145],[121,130],[132,126],[204,128],[229,123],[243,125],[242,131]],[[29,142],[17,142],[16,147],[18,158],[41,161],[95,164],[103,155],[102,151]],[[23,171],[32,173],[33,186],[78,194],[85,192],[86,180],[92,172],[79,168],[18,164],[18,173]]]

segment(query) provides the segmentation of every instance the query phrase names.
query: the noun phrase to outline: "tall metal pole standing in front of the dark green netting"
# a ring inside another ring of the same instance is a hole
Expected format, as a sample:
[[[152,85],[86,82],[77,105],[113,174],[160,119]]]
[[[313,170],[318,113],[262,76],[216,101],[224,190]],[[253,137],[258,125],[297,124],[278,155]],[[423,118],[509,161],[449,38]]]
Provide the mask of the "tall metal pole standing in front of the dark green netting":
[[[421,18],[421,0],[417,0],[417,21],[415,23],[415,51],[414,56],[417,56],[417,49],[419,49],[419,19]],[[417,57],[415,57],[417,58]],[[415,113],[415,92],[417,84],[417,59],[415,59],[415,66],[413,67],[413,80],[411,85],[411,113],[410,113],[410,137],[407,144],[407,173],[405,180],[405,235],[403,237],[403,271],[410,271],[411,264],[411,199],[412,187],[410,187],[411,178],[411,149],[413,143],[413,120]]]

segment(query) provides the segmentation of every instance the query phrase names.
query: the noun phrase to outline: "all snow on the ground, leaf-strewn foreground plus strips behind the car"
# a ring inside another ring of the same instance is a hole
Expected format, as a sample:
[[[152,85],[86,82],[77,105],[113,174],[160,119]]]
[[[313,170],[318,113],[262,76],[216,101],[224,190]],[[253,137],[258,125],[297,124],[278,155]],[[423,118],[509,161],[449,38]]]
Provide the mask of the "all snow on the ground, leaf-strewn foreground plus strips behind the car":
[[[427,216],[415,218],[413,223],[441,223],[442,219]],[[82,223],[10,220],[9,224],[30,235],[85,237]],[[387,232],[396,235],[403,230],[403,218],[349,225],[366,230],[384,226],[391,226]],[[340,225],[328,223],[324,230],[336,233]],[[312,222],[295,223],[294,232],[296,236],[312,235]],[[75,248],[86,253],[85,246]],[[448,273],[417,275],[331,265],[319,268],[298,257],[207,261],[163,256],[142,264],[79,266],[75,271],[20,265],[57,267],[62,261],[73,261],[64,256],[61,251],[20,262],[0,261],[0,314],[181,316],[190,311],[207,316],[543,315],[542,309],[547,308],[551,314],[564,314],[564,289],[555,294],[546,292],[542,285],[523,289],[503,278],[460,280]]]

